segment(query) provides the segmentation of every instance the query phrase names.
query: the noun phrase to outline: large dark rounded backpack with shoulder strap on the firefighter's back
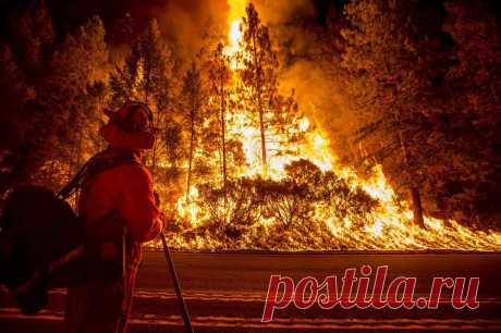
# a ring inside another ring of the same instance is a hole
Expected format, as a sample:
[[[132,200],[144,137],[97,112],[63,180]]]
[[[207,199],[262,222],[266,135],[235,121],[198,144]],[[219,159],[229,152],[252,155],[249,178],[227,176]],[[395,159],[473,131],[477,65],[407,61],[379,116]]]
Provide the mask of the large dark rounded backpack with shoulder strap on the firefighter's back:
[[[122,261],[99,261],[99,243],[89,240],[84,221],[65,199],[96,175],[123,164],[140,162],[132,153],[100,152],[57,195],[27,185],[7,198],[0,218],[0,284],[13,294],[24,313],[46,307],[49,289],[78,285],[91,272],[106,271],[103,279],[122,275]]]

